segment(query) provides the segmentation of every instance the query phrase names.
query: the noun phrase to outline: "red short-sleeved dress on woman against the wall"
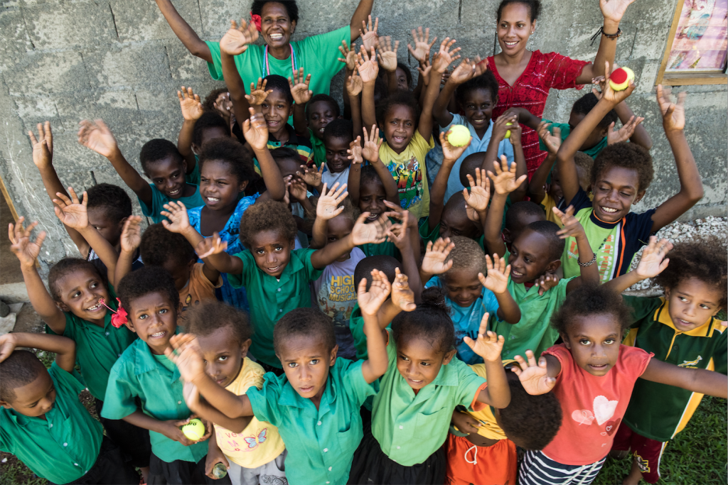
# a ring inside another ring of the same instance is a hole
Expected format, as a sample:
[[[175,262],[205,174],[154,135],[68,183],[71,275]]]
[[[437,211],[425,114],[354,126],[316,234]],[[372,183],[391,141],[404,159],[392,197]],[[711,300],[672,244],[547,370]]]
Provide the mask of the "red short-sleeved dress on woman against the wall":
[[[488,68],[493,71],[498,81],[498,104],[493,109],[493,118],[501,116],[508,108],[526,108],[532,115],[541,118],[544,113],[549,89],[582,89],[577,78],[582,73],[585,60],[575,60],[558,54],[558,52],[531,52],[531,60],[513,86],[508,84],[498,73],[494,58],[488,57]],[[523,156],[526,157],[526,168],[529,179],[547,156],[547,152],[539,151],[539,135],[533,129],[523,126],[521,136]]]

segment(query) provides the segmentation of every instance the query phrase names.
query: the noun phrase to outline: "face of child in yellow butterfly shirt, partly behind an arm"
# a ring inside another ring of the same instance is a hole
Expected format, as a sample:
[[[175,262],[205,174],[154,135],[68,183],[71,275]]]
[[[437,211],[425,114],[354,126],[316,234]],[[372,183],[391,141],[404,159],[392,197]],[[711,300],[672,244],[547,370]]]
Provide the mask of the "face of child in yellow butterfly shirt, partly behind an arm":
[[[205,337],[196,337],[207,375],[221,387],[229,386],[240,374],[250,339],[238,342],[229,326],[223,326]]]

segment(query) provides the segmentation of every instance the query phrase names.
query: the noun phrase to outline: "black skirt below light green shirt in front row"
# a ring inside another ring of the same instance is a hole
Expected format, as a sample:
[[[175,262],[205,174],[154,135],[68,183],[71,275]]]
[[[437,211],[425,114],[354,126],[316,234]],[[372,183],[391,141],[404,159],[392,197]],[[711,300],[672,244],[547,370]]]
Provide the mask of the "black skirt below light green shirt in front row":
[[[443,446],[424,462],[405,467],[389,460],[371,430],[365,430],[364,438],[354,453],[349,485],[442,485],[446,469],[447,456]]]

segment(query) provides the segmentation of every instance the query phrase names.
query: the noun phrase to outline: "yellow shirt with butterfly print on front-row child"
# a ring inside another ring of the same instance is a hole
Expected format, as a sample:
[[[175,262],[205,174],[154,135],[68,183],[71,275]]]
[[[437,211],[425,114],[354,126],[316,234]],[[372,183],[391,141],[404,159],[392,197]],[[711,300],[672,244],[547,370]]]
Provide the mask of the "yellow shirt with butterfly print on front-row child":
[[[260,389],[263,387],[264,374],[263,367],[246,357],[240,374],[226,389],[236,396],[242,396],[253,385]],[[221,425],[215,425],[215,438],[227,459],[243,468],[265,465],[285,450],[278,428],[269,422],[258,421],[255,416],[241,433],[233,433]]]

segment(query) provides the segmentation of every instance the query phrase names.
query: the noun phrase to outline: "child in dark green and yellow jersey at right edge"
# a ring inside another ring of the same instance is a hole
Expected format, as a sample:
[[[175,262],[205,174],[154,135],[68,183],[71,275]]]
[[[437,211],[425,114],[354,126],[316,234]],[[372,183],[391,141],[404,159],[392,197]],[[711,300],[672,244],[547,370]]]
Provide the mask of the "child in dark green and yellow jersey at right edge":
[[[678,243],[670,250],[671,246],[652,236],[636,270],[605,284],[622,292],[637,281],[655,278],[665,289],[664,297],[622,297],[632,310],[623,343],[679,367],[726,374],[728,332],[716,318],[726,305],[724,246],[717,238]],[[669,265],[665,256],[670,257]],[[702,394],[637,380],[612,446],[634,455],[625,484],[637,484],[640,478],[649,484],[657,482],[667,442],[685,428],[702,398]]]

